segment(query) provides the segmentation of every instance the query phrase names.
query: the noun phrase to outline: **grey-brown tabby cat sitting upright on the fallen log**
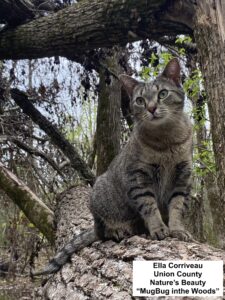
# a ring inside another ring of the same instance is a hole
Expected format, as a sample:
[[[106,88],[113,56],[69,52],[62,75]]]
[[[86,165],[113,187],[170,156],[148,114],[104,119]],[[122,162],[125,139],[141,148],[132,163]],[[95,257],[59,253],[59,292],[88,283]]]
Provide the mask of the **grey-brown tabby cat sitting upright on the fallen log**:
[[[150,83],[119,76],[130,97],[134,127],[93,187],[94,228],[75,236],[34,275],[57,272],[74,252],[97,240],[120,241],[142,233],[157,240],[191,239],[182,221],[191,190],[192,124],[183,111],[180,71],[174,58]]]

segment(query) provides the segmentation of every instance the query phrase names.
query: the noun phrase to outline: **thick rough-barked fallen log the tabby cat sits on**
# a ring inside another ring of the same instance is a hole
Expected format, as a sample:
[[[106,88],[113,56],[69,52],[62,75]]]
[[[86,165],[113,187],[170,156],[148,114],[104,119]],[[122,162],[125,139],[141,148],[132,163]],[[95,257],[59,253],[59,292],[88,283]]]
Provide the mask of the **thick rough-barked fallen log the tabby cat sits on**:
[[[90,189],[74,187],[59,197],[57,208],[57,248],[73,233],[88,228]],[[179,242],[167,238],[151,241],[134,236],[120,243],[95,242],[72,256],[60,272],[37,292],[37,299],[48,300],[129,300],[132,297],[132,262],[145,260],[225,260],[225,253],[206,244]],[[39,295],[39,296],[38,296]],[[144,298],[143,298],[144,299]],[[146,299],[146,298],[145,298]],[[150,299],[159,299],[151,297]],[[204,297],[165,297],[163,299],[205,299]],[[218,299],[218,298],[215,298]],[[220,298],[221,299],[221,298]]]

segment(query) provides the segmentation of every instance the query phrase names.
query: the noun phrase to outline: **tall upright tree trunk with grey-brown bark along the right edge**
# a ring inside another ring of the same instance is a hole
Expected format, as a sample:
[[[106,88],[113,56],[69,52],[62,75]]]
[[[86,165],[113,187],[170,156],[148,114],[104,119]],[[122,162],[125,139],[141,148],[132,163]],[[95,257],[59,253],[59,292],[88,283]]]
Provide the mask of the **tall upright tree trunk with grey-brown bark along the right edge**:
[[[224,247],[225,214],[225,25],[224,1],[198,1],[194,35],[205,80],[213,147],[217,167],[219,198],[211,199],[214,225]],[[223,14],[222,14],[223,13]],[[222,14],[222,15],[221,15]],[[216,186],[215,186],[216,188]]]

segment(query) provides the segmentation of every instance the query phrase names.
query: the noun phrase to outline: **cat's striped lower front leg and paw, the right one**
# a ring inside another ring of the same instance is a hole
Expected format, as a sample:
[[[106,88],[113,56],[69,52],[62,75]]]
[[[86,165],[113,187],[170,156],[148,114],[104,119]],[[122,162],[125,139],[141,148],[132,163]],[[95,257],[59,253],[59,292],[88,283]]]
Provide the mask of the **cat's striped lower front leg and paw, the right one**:
[[[186,199],[183,195],[173,197],[169,204],[169,230],[170,236],[182,241],[192,240],[191,234],[183,224]]]

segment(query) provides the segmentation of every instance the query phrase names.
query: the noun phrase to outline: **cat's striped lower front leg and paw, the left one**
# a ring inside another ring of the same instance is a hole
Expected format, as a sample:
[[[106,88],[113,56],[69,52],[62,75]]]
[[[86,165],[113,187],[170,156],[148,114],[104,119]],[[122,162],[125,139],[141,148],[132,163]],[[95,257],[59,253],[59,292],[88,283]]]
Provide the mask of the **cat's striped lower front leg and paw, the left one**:
[[[130,198],[130,203],[144,220],[152,239],[163,240],[169,236],[169,229],[162,220],[154,194],[151,192],[136,193]]]

